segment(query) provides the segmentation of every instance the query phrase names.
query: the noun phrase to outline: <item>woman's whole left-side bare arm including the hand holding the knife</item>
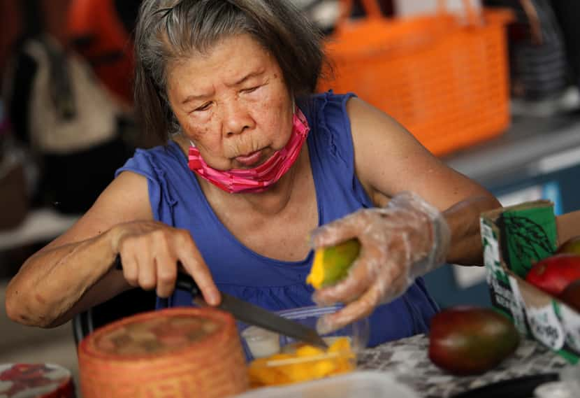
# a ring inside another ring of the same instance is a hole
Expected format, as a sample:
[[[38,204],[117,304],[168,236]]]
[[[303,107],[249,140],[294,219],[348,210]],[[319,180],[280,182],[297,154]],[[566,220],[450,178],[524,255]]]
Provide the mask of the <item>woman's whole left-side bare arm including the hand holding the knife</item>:
[[[117,255],[122,272],[111,269]],[[131,286],[168,297],[178,262],[205,301],[218,304],[189,231],[154,221],[147,180],[126,171],[71,229],[24,263],[6,290],[6,312],[17,322],[52,327]]]

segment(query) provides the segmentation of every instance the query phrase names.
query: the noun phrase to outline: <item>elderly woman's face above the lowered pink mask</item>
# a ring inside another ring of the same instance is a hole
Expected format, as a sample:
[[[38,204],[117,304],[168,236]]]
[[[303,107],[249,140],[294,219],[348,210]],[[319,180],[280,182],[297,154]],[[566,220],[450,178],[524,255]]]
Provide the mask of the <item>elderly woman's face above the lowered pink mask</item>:
[[[168,69],[168,99],[214,169],[245,169],[284,148],[292,100],[275,58],[249,35],[226,38]]]

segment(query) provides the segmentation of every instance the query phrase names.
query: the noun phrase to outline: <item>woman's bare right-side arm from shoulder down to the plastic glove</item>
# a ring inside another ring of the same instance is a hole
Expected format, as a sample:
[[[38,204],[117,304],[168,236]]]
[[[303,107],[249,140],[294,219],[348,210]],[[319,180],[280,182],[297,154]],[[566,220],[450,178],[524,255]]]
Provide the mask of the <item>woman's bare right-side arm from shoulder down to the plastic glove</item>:
[[[385,113],[360,99],[347,103],[356,173],[383,205],[401,191],[412,191],[444,212],[451,229],[447,261],[482,264],[479,214],[500,206],[493,195],[449,168]]]

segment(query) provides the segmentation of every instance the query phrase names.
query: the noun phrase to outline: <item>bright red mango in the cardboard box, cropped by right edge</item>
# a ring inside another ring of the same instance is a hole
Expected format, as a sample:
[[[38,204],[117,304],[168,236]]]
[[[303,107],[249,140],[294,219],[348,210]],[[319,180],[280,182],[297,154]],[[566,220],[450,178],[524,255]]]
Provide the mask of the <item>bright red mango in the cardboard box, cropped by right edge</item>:
[[[525,280],[553,296],[580,279],[580,255],[559,254],[546,257],[532,266]]]

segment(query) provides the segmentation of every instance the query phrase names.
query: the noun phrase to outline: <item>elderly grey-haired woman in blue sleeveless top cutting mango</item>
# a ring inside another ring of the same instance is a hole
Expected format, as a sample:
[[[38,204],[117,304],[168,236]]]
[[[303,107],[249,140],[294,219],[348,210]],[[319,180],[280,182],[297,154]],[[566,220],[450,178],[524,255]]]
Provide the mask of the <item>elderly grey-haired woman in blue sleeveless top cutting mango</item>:
[[[131,287],[189,305],[179,261],[210,304],[219,290],[270,310],[341,302],[319,331],[370,315],[371,344],[426,332],[420,276],[479,264],[479,213],[498,201],[353,94],[312,94],[320,36],[287,1],[145,0],[135,40],[136,105],[166,145],[138,150],[27,260],[10,318],[59,325]],[[313,296],[312,248],[351,237],[349,276]]]

